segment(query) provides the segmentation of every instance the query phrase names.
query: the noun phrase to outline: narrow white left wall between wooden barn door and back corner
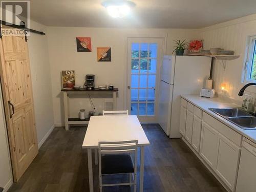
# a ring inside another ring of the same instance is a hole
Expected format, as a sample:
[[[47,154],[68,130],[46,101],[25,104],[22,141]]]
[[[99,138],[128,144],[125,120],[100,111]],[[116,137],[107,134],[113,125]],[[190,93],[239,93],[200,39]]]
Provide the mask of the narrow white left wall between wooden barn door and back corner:
[[[47,28],[33,21],[31,21],[31,28],[46,33],[46,36],[31,33],[31,36],[28,37],[37,140],[41,146],[54,125],[52,83]]]

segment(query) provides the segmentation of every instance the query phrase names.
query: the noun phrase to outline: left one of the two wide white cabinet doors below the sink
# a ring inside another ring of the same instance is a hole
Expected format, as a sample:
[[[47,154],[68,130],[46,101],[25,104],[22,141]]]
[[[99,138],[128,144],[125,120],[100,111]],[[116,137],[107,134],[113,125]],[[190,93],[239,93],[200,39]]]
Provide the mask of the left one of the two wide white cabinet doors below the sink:
[[[218,132],[210,125],[203,122],[200,142],[200,156],[215,170],[217,154]]]

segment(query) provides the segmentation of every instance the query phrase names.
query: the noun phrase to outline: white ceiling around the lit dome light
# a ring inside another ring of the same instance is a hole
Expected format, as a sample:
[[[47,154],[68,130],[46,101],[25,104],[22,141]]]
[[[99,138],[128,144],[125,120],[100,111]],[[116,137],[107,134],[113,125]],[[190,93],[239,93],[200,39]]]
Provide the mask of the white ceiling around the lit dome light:
[[[255,0],[134,0],[122,19],[111,18],[100,0],[32,0],[31,18],[47,26],[202,28],[256,13]]]

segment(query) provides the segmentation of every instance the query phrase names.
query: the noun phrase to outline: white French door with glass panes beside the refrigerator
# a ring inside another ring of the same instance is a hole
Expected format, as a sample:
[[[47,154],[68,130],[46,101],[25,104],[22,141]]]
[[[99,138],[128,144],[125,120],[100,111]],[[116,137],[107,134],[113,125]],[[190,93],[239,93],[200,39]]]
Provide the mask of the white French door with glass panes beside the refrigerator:
[[[163,38],[127,39],[127,109],[140,122],[157,122]]]

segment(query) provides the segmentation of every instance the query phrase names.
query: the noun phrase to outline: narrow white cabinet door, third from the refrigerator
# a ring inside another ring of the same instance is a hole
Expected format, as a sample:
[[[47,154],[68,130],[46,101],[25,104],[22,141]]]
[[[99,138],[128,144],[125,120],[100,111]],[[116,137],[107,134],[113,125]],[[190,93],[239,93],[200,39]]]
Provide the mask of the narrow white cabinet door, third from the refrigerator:
[[[202,120],[199,119],[196,115],[194,115],[191,145],[195,148],[195,150],[198,153],[200,148],[201,129],[202,129]]]

